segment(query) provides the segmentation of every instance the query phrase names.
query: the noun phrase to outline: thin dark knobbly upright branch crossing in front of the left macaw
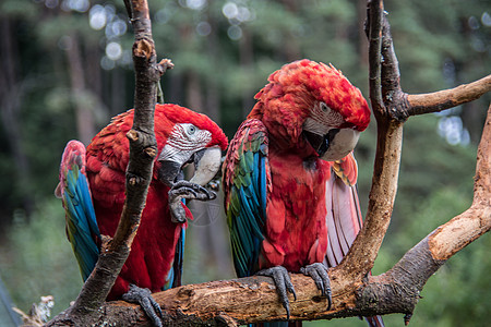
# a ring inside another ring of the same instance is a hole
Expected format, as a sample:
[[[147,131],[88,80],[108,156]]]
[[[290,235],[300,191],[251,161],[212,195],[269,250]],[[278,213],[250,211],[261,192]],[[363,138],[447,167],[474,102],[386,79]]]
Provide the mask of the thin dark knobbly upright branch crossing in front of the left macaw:
[[[125,3],[130,4],[129,1]],[[130,254],[152,180],[154,158],[157,154],[154,133],[157,82],[171,63],[170,61],[156,63],[157,56],[146,1],[131,0],[130,7],[131,10],[128,11],[132,15],[131,22],[135,33],[133,45],[135,95],[133,128],[127,134],[130,142],[130,161],[127,169],[123,211],[113,239],[103,244],[99,259],[75,303],[67,312],[55,317],[49,323],[50,326],[67,324],[88,326],[97,319],[99,308]]]

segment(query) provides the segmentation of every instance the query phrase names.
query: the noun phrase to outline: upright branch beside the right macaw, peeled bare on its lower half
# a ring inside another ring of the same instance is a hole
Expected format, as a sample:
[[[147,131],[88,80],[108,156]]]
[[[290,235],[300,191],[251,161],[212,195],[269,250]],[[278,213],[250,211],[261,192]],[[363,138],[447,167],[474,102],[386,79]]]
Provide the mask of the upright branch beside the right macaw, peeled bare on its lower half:
[[[387,108],[397,108],[399,104],[387,101],[387,97],[383,97],[387,93],[388,86],[398,89],[399,72],[397,62],[386,60],[385,57],[384,65],[382,65],[381,53],[386,55],[386,49],[393,49],[388,24],[385,26],[383,24],[382,1],[369,1],[368,14],[370,22],[370,100],[378,123],[375,164],[364,226],[346,258],[333,271],[333,278],[351,276],[351,282],[361,280],[373,267],[391,222],[397,192],[403,143],[403,123],[394,120],[391,112],[387,111]]]

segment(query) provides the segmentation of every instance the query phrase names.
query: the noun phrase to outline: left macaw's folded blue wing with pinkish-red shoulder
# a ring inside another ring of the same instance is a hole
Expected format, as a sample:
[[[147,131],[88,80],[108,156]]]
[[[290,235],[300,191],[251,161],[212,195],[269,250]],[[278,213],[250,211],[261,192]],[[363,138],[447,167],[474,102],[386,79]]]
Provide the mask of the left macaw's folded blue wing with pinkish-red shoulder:
[[[100,232],[85,174],[85,146],[70,141],[60,165],[60,183],[56,195],[65,210],[67,237],[72,244],[83,279],[87,279],[97,263]]]

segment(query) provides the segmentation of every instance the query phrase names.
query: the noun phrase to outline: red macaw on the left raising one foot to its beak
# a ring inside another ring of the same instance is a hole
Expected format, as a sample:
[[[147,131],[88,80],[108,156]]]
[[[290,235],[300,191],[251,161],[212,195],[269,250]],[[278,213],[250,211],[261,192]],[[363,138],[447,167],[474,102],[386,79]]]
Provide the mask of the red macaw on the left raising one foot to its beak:
[[[115,117],[86,152],[82,143],[71,141],[62,156],[56,194],[62,198],[67,234],[84,280],[97,262],[100,234],[112,237],[118,227],[129,161],[125,135],[132,124],[133,110],[129,110]],[[177,105],[155,107],[155,136],[158,157],[141,225],[107,299],[139,302],[161,325],[156,316],[160,308],[149,291],[180,284],[187,218],[192,218],[181,199],[215,196],[202,185],[219,170],[227,137],[206,116]],[[182,168],[190,162],[195,173],[184,181]],[[151,305],[143,305],[148,301]]]

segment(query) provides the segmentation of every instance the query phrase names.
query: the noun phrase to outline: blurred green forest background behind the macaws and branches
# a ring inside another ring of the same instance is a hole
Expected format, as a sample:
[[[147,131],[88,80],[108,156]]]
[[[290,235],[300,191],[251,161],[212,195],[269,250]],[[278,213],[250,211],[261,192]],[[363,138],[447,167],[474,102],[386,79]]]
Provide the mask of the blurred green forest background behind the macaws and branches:
[[[176,64],[163,78],[166,101],[207,113],[228,137],[268,74],[296,59],[331,62],[368,95],[364,0],[148,2],[158,57]],[[387,0],[385,8],[406,92],[448,88],[490,73],[489,1]],[[53,196],[61,153],[71,138],[87,144],[110,117],[132,107],[133,34],[122,0],[2,0],[0,17],[0,277],[15,306],[27,311],[52,294],[57,314],[82,286]],[[470,205],[489,102],[486,95],[406,124],[396,207],[374,274]],[[373,121],[356,149],[363,211],[374,150]],[[232,278],[221,202],[193,206],[184,281]],[[451,258],[426,286],[411,326],[484,326],[490,247],[484,235]],[[404,324],[402,315],[384,319]],[[324,325],[364,323],[309,324]]]

